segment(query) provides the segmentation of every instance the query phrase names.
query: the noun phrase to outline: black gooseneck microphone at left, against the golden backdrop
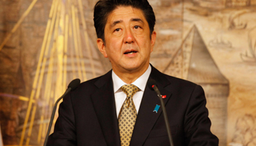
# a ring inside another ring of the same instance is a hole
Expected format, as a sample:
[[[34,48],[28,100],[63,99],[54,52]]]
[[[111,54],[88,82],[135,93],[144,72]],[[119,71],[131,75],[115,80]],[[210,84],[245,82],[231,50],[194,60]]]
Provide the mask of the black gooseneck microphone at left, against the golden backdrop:
[[[44,143],[44,146],[46,146],[47,142],[48,142],[48,137],[49,137],[49,134],[50,134],[50,128],[53,124],[53,118],[54,118],[54,115],[55,115],[55,112],[56,112],[56,108],[57,108],[57,104],[59,103],[59,101],[67,95],[67,93],[69,93],[70,91],[74,91],[75,88],[78,88],[78,85],[80,85],[80,79],[75,79],[75,80],[72,80],[69,85],[67,86],[67,90],[65,91],[65,93],[55,102],[54,104],[54,107],[53,107],[53,112],[51,114],[51,117],[50,117],[50,123],[49,123],[49,126],[48,126],[48,131],[47,131],[47,134],[46,134],[46,137],[45,137],[45,143]]]

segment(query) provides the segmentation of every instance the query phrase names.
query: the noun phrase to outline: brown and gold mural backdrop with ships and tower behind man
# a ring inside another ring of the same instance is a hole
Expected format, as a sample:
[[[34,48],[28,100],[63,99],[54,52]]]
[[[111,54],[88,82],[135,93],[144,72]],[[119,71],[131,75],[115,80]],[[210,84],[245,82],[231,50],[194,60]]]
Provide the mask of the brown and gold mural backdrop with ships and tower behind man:
[[[97,50],[96,2],[0,1],[4,145],[42,145],[68,83],[111,69]],[[149,2],[157,17],[151,64],[203,86],[220,146],[256,145],[256,0]]]

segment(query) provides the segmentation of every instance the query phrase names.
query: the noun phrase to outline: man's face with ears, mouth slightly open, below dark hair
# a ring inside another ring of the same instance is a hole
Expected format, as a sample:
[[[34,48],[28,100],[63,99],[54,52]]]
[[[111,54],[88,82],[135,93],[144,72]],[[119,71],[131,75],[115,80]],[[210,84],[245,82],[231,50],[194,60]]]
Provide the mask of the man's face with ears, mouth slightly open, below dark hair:
[[[108,15],[105,43],[97,39],[100,52],[109,58],[113,71],[143,72],[149,64],[156,32],[151,34],[148,22],[140,9],[117,7]]]

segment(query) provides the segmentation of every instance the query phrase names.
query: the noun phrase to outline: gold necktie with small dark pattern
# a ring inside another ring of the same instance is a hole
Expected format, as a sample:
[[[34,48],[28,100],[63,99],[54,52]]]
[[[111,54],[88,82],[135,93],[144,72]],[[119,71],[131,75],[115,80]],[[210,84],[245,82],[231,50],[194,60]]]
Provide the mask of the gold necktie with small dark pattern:
[[[119,133],[121,146],[129,146],[137,118],[137,112],[135,104],[132,101],[132,96],[139,91],[139,88],[136,85],[129,84],[121,86],[121,90],[127,94],[127,99],[125,99],[118,115]]]

